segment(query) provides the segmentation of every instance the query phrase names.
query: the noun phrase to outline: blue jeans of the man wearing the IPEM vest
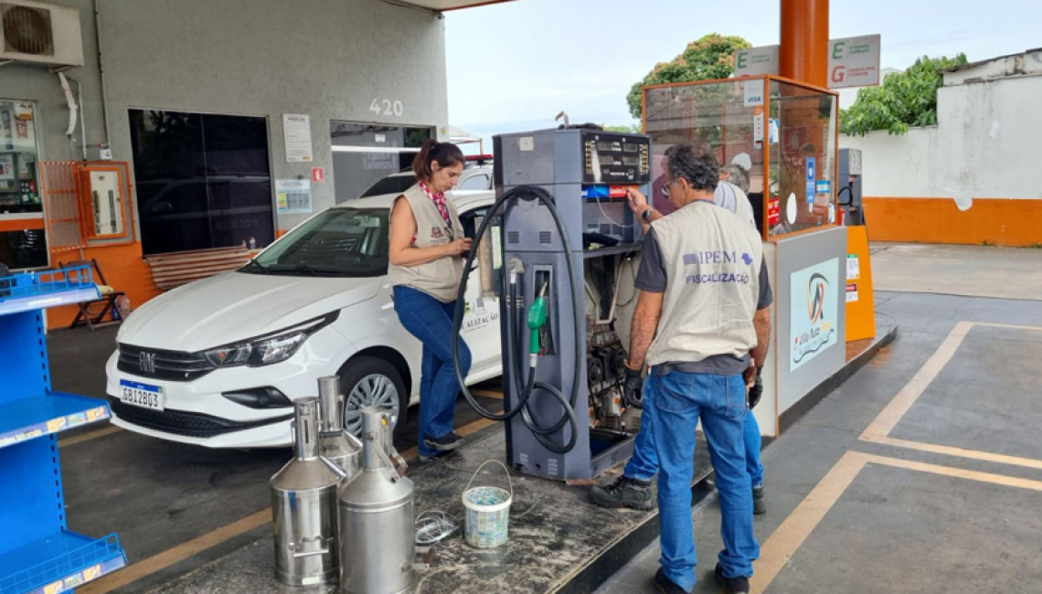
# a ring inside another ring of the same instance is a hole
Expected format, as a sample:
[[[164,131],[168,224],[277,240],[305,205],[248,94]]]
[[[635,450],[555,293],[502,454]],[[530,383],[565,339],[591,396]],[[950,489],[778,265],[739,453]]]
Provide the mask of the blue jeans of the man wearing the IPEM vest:
[[[724,549],[720,565],[726,577],[752,575],[760,545],[752,534],[752,482],[743,438],[746,407],[741,375],[672,372],[651,375],[644,383],[645,416],[660,463],[659,517],[662,566],[686,591],[695,586],[695,542],[691,521],[695,427],[702,421],[720,494]],[[647,400],[650,396],[650,401]]]

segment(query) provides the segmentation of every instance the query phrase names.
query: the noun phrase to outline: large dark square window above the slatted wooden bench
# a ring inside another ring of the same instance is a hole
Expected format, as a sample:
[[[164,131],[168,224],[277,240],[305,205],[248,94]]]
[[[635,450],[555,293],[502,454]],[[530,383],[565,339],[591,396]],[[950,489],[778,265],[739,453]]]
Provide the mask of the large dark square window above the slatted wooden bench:
[[[275,239],[268,120],[130,109],[145,255]]]

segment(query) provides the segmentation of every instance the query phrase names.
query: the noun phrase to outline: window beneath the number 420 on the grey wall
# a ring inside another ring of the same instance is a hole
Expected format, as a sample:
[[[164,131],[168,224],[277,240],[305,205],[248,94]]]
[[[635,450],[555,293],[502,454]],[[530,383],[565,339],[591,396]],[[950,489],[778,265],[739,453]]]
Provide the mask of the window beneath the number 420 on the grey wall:
[[[388,175],[407,170],[432,128],[332,122],[332,176],[337,203],[354,200]],[[410,180],[408,185],[413,185]]]

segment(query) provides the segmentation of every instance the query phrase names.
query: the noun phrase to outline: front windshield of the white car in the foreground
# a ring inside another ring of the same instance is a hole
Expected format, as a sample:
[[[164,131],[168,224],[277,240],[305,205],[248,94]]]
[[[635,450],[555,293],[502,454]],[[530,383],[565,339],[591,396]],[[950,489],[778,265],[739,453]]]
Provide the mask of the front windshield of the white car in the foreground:
[[[388,271],[388,208],[330,208],[290,231],[240,269],[290,276],[382,276]]]

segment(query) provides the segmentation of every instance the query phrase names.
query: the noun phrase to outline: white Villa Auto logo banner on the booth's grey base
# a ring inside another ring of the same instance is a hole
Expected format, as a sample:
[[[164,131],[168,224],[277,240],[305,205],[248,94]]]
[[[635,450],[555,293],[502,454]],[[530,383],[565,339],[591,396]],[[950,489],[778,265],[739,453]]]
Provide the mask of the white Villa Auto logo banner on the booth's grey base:
[[[837,342],[839,258],[832,258],[789,278],[789,371],[796,371]]]

